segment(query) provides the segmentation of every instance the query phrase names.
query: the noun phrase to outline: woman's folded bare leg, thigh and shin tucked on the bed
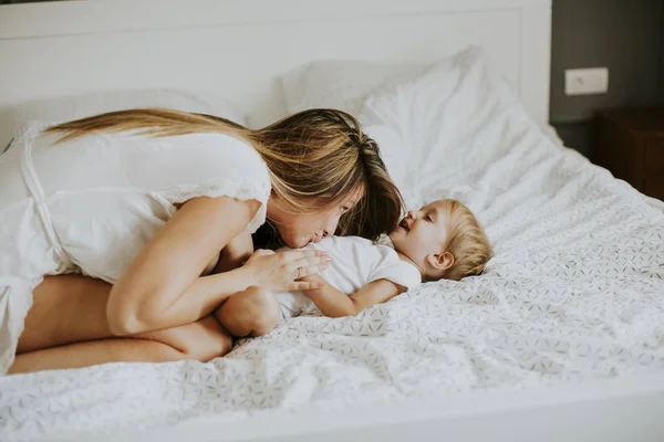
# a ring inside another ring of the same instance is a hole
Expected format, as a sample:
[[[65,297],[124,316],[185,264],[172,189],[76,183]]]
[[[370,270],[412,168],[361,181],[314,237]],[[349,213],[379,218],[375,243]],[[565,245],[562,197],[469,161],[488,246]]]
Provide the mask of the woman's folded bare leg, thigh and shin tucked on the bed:
[[[110,292],[110,284],[85,276],[46,278],[34,291],[9,372],[111,361],[207,361],[230,351],[232,337],[212,316],[127,338],[112,337],[106,323]]]

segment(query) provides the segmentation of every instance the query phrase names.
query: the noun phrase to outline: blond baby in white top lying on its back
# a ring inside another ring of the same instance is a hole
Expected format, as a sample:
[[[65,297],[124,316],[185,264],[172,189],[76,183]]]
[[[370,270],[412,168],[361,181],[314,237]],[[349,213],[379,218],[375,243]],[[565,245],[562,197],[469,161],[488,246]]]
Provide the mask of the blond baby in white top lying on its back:
[[[277,294],[282,317],[315,312],[353,316],[417,287],[422,281],[458,281],[479,275],[492,254],[475,215],[459,201],[434,201],[411,211],[390,233],[394,250],[359,236],[331,236],[305,249],[328,252],[332,261],[304,281],[322,288]]]

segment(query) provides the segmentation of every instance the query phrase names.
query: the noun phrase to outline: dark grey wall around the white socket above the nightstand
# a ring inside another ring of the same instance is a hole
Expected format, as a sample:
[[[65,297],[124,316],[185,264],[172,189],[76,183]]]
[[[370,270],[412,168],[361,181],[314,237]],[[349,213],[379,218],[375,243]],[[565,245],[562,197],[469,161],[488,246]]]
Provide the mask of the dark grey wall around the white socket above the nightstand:
[[[592,155],[595,110],[664,102],[664,0],[553,0],[550,122]],[[609,92],[566,96],[564,70],[609,67]]]

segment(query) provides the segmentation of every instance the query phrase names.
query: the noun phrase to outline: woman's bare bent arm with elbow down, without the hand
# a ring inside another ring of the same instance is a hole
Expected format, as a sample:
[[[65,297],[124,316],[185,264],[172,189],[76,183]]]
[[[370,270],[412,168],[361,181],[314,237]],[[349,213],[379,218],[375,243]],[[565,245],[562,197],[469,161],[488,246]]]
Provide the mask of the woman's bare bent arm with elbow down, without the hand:
[[[209,280],[197,282],[209,256],[245,229],[259,207],[258,201],[229,197],[195,198],[184,204],[113,286],[106,307],[111,330],[133,335],[191,322],[201,299],[184,295],[189,288],[198,295],[204,286],[210,288]],[[247,288],[240,284],[241,272],[226,280],[228,290]]]

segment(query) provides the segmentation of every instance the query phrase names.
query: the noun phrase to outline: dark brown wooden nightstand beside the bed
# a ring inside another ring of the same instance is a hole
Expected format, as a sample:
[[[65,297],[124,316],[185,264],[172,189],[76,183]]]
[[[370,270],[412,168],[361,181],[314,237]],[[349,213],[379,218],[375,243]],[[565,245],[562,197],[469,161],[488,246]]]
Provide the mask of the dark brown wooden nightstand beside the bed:
[[[602,110],[593,130],[592,162],[664,200],[664,107]]]

